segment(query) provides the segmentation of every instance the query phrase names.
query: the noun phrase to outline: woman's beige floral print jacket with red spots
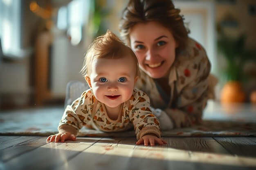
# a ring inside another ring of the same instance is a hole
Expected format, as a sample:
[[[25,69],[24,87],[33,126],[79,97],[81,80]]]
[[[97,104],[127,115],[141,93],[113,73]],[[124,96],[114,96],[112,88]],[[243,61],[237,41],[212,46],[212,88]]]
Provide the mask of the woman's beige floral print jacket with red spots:
[[[210,74],[211,64],[204,48],[189,39],[186,50],[176,55],[169,74],[171,94],[163,99],[156,82],[141,70],[136,87],[150,98],[153,108],[160,108],[171,118],[174,128],[199,124],[209,98],[214,98],[217,79]],[[152,110],[154,110],[152,108]]]

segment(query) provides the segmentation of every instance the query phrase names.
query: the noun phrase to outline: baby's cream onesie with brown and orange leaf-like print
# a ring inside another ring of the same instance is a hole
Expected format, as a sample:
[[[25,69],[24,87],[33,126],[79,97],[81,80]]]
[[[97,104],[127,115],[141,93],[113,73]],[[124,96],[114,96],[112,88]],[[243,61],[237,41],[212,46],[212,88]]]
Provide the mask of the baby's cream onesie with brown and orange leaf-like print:
[[[117,120],[111,120],[105,105],[95,98],[92,89],[88,89],[72,105],[66,107],[58,130],[64,132],[63,125],[72,126],[76,129],[74,135],[77,135],[83,126],[92,126],[106,132],[126,131],[134,127],[137,139],[148,133],[160,138],[159,120],[152,114],[149,106],[148,96],[134,89],[131,98],[122,104]]]

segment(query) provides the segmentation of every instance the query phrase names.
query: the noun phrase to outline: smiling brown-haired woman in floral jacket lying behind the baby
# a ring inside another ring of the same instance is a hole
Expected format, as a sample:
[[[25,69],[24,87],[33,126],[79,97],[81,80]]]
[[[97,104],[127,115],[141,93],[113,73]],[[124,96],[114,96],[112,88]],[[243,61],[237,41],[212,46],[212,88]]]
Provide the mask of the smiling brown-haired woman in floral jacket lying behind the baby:
[[[119,24],[139,61],[137,88],[148,94],[162,130],[200,124],[214,98],[211,64],[183,20],[171,0],[130,0]]]

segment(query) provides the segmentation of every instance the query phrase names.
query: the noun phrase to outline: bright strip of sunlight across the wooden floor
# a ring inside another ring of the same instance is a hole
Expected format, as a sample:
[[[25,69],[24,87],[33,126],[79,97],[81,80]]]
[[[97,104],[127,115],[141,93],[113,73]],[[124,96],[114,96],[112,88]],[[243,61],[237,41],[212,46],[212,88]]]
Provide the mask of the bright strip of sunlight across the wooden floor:
[[[135,144],[116,144],[115,139],[104,138],[101,143],[95,143],[99,138],[84,138],[83,142],[68,141],[65,143],[50,142],[41,148],[82,151],[99,155],[115,155],[121,157],[139,157],[168,161],[189,161],[196,163],[212,163],[230,166],[256,167],[256,158],[232,156],[219,153],[191,152],[187,150],[167,148],[166,146],[136,146]],[[111,143],[112,142],[112,143]]]

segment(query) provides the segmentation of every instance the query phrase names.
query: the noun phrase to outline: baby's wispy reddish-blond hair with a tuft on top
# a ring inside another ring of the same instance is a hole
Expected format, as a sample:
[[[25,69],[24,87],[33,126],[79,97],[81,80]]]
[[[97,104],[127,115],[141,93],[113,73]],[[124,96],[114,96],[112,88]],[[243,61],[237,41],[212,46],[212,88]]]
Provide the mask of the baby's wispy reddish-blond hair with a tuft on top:
[[[136,75],[139,76],[139,64],[135,53],[132,51],[132,49],[130,49],[130,47],[126,46],[126,44],[124,44],[114,33],[107,31],[106,34],[94,39],[92,44],[89,46],[85,54],[83,68],[80,72],[83,74],[83,76],[89,75],[92,61],[95,58],[120,59],[128,55],[132,57],[136,67]]]

